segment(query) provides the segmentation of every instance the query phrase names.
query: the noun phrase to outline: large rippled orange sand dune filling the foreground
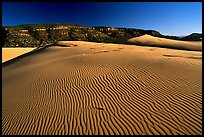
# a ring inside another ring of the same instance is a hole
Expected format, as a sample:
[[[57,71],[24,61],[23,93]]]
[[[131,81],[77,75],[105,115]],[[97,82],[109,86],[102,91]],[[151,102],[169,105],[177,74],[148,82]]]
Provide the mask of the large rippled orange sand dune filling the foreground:
[[[202,134],[202,52],[61,44],[2,67],[3,135]]]

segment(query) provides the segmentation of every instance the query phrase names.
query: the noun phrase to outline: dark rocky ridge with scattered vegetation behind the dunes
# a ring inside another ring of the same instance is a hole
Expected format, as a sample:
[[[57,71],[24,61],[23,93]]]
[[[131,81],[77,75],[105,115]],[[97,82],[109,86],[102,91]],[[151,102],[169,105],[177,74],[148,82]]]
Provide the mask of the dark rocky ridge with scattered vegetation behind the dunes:
[[[117,42],[149,34],[156,37],[180,39],[176,36],[165,36],[155,30],[132,28],[87,27],[75,24],[24,24],[19,26],[4,26],[1,30],[3,47],[40,47],[57,41],[90,41]],[[192,37],[180,40],[191,40]],[[202,34],[192,35],[193,40],[201,40]]]

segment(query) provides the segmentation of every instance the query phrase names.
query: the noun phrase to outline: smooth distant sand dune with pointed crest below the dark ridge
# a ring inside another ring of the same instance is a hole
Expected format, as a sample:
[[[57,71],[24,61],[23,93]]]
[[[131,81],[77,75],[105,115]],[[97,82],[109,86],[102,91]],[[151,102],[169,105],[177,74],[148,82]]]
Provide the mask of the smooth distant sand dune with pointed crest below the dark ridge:
[[[127,40],[131,44],[155,46],[155,47],[168,47],[176,49],[185,49],[193,51],[202,51],[202,41],[181,41],[171,40],[166,38],[154,37],[151,35],[142,35]]]

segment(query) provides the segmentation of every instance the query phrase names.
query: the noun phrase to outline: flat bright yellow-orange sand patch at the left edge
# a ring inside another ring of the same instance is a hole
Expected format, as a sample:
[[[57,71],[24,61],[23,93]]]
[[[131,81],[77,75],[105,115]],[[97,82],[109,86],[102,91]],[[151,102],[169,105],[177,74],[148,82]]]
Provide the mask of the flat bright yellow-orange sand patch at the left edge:
[[[2,48],[2,63],[34,49],[35,48]]]

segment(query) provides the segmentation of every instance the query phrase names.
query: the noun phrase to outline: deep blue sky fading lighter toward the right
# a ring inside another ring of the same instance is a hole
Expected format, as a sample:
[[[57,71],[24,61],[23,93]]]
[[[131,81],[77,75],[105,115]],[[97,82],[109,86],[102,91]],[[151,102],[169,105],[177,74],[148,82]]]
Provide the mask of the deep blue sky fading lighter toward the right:
[[[3,26],[53,22],[189,35],[202,32],[202,2],[2,2]]]

